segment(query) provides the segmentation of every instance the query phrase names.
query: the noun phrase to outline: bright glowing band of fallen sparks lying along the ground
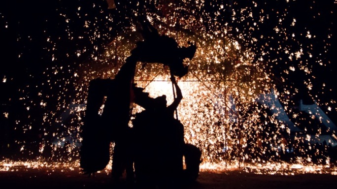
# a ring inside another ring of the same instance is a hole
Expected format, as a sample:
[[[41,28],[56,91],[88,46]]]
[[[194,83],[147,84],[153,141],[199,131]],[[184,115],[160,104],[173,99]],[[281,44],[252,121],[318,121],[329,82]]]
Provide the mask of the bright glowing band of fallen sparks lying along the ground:
[[[58,170],[61,172],[81,171],[78,161],[44,161],[44,160],[12,160],[4,159],[0,163],[0,171],[29,171],[29,170]],[[100,172],[109,174],[111,162]],[[337,167],[329,165],[315,164],[293,164],[288,162],[266,162],[266,163],[240,163],[240,162],[220,162],[202,163],[200,171],[226,172],[231,170],[241,170],[246,173],[269,174],[269,175],[296,175],[303,173],[331,174],[337,175]]]

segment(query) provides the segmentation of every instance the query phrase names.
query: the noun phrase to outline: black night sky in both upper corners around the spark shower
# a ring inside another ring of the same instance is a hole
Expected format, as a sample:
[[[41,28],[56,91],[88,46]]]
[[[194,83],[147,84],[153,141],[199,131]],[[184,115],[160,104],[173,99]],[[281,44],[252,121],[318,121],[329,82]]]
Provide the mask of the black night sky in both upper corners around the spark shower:
[[[308,67],[312,68],[311,81],[313,89],[310,93],[317,94],[317,98],[323,102],[327,102],[333,108],[336,108],[336,102],[331,102],[331,99],[336,100],[336,1],[335,0],[296,0],[292,2],[292,6],[286,8],[288,16],[283,22],[292,22],[293,18],[296,18],[296,27],[289,28],[287,32],[305,33],[310,31],[316,38],[308,40],[304,35],[298,34],[297,40],[284,39],[283,36],[277,35],[274,32],[275,23],[279,22],[277,11],[284,10],[285,0],[257,0],[259,7],[251,6],[251,3],[243,2],[241,0],[234,0],[234,9],[240,10],[242,7],[248,6],[252,11],[257,9],[265,10],[264,14],[270,16],[270,20],[264,22],[260,26],[258,31],[250,31],[246,37],[257,37],[259,41],[255,44],[253,49],[258,52],[262,46],[266,43],[270,45],[270,48],[277,49],[282,48],[284,44],[291,47],[299,46],[304,51],[309,50],[313,57],[317,59],[309,59],[306,54],[300,60],[289,61],[288,64],[278,64],[273,66],[272,70],[275,72],[275,77],[282,78],[287,77],[285,82],[281,82],[280,89],[289,88],[294,90],[292,86],[298,86],[300,90],[297,93],[297,99],[304,99],[306,102],[310,102],[308,97],[308,91],[303,85],[303,78],[307,77],[303,75],[303,72],[294,72],[292,74],[284,74],[285,67],[290,65],[297,65],[300,61],[308,61]],[[107,43],[110,38],[117,31],[122,29],[122,26],[128,25],[128,20],[125,19],[126,15],[130,14],[130,9],[135,8],[135,4],[125,5],[123,0],[115,0],[117,5],[116,10],[108,10],[105,0],[8,0],[1,1],[0,3],[0,79],[6,78],[6,83],[0,85],[0,102],[6,104],[10,101],[11,108],[14,107],[18,114],[15,117],[22,115],[27,116],[25,108],[27,106],[32,107],[35,111],[30,116],[28,122],[38,124],[41,122],[43,112],[48,111],[48,107],[39,108],[36,107],[43,97],[37,95],[39,92],[43,94],[53,96],[53,93],[59,91],[59,88],[50,89],[50,86],[41,85],[41,81],[51,80],[51,83],[55,82],[57,85],[62,84],[60,80],[71,76],[71,72],[64,70],[62,72],[62,78],[50,78],[49,74],[45,72],[53,70],[53,67],[67,67],[78,66],[78,63],[85,61],[90,56],[90,51],[94,51],[94,46],[102,43]],[[205,6],[206,12],[212,12],[212,7],[220,0],[210,0]],[[266,3],[263,3],[266,2]],[[96,7],[92,4],[96,3]],[[213,5],[212,5],[213,3]],[[74,11],[78,6],[81,6],[81,11]],[[123,9],[122,6],[126,6]],[[216,7],[216,6],[215,6]],[[101,11],[103,10],[103,11]],[[77,15],[79,12],[80,16]],[[66,16],[64,16],[64,15]],[[258,14],[255,14],[258,15]],[[114,23],[107,23],[105,17],[112,16],[115,18]],[[237,17],[240,16],[240,12],[237,11]],[[65,22],[65,17],[70,19],[70,23]],[[96,19],[96,18],[101,19]],[[253,20],[258,18],[246,19],[242,22],[231,23],[233,27],[239,29],[239,31],[246,31],[247,23],[254,22]],[[97,30],[102,33],[102,37],[96,41],[90,41],[88,38],[95,30],[83,28],[85,20],[92,20],[91,27],[97,27]],[[96,21],[95,21],[96,20]],[[95,21],[95,22],[94,22]],[[227,18],[223,19],[227,22]],[[95,26],[93,23],[96,23]],[[7,26],[7,28],[5,28]],[[116,30],[109,31],[109,27],[116,27]],[[120,27],[120,28],[119,28]],[[74,36],[74,39],[69,39],[69,33]],[[327,35],[331,34],[328,38]],[[83,35],[84,39],[78,39],[76,36]],[[265,38],[260,38],[264,35]],[[50,38],[53,42],[48,42],[46,39]],[[329,44],[329,45],[327,45]],[[55,48],[56,50],[51,50]],[[76,56],[76,50],[86,48],[88,53],[83,53],[82,56]],[[327,52],[325,52],[327,51]],[[268,55],[264,56],[266,61],[280,59],[280,55],[273,50],[270,50]],[[57,60],[51,61],[52,57],[57,57]],[[286,60],[287,57],[282,57],[282,60]],[[315,63],[315,60],[322,60],[326,66],[321,66]],[[326,87],[322,89],[322,83],[326,84]],[[38,85],[39,88],[32,86]],[[29,86],[29,87],[27,87]],[[71,86],[70,86],[71,88]],[[23,89],[24,92],[22,91]],[[331,89],[331,90],[330,90]],[[69,90],[71,91],[71,90]],[[22,96],[30,96],[31,99],[18,100]],[[69,100],[71,92],[65,95],[65,101]],[[11,99],[11,100],[9,100]],[[47,104],[55,104],[56,97],[49,97],[44,99]],[[323,108],[326,108],[324,106]],[[22,113],[22,115],[20,114]],[[335,115],[336,110],[333,110],[331,115]]]

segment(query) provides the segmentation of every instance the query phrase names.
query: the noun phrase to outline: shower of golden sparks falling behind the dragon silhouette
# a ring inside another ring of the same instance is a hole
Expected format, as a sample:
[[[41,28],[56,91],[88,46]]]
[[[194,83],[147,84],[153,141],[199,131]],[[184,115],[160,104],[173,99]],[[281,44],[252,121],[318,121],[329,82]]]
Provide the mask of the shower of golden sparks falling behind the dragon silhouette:
[[[46,67],[43,71],[45,80],[19,90],[28,117],[32,106],[39,106],[44,112],[39,153],[49,149],[54,160],[64,159],[64,153],[59,151],[70,137],[72,143],[67,157],[78,158],[88,83],[98,77],[114,78],[136,42],[142,40],[135,17],[146,10],[147,18],[161,34],[173,37],[180,46],[188,46],[189,41],[197,45],[195,57],[184,62],[189,65],[188,74],[178,79],[183,100],[177,113],[185,126],[185,141],[202,150],[203,169],[221,170],[244,165],[245,171],[257,173],[280,170],[284,174],[323,173],[319,166],[306,163],[313,163],[315,159],[315,162],[329,167],[334,162],[325,154],[328,150],[309,153],[313,150],[303,147],[305,138],[300,136],[297,141],[289,141],[289,128],[277,120],[277,115],[270,115],[270,107],[258,103],[257,99],[261,94],[271,94],[273,89],[284,109],[294,119],[301,117],[292,110],[294,101],[288,96],[297,95],[302,89],[280,83],[289,83],[294,75],[300,73],[303,76],[301,85],[307,89],[307,95],[316,100],[317,95],[312,91],[318,86],[315,86],[313,69],[330,64],[322,53],[329,52],[332,33],[323,36],[322,40],[326,41],[324,51],[317,53],[314,43],[318,36],[315,32],[297,29],[302,23],[291,14],[293,7],[298,6],[295,0],[231,2],[149,0],[145,7],[140,7],[143,4],[139,2],[117,6],[114,13],[108,12],[100,3],[57,9],[60,25],[66,34],[45,38],[49,61],[75,61]],[[310,5],[314,7],[315,2],[310,2]],[[123,15],[126,14],[123,8],[130,8],[127,15]],[[317,14],[315,17],[319,17],[320,12]],[[127,24],[121,17],[126,18]],[[76,32],[75,27],[81,28],[80,32]],[[110,35],[113,31],[115,33]],[[75,44],[71,46],[71,52],[61,54],[59,43],[63,40],[86,45]],[[303,41],[308,44],[302,44]],[[313,66],[313,63],[317,65]],[[161,64],[138,63],[135,83],[152,97],[167,95],[170,103],[173,94],[169,76],[169,70]],[[8,80],[4,77],[2,81]],[[324,91],[329,88],[325,84],[322,86]],[[27,93],[31,88],[36,88],[37,101]],[[321,101],[317,99],[319,104],[329,106],[329,111],[336,110],[332,108],[336,105],[334,99]],[[57,108],[48,110],[50,106]],[[141,108],[134,105],[133,112],[139,111]],[[62,112],[68,112],[72,117],[65,121]],[[19,129],[20,120],[16,123]],[[20,130],[29,132],[34,124],[30,122]],[[295,125],[300,126],[299,123]],[[317,131],[315,134],[321,133]],[[336,139],[335,134],[333,136]],[[26,150],[26,142],[18,141],[18,144],[23,151]],[[309,145],[308,148],[315,147]],[[273,162],[285,159],[297,163],[300,168]],[[259,166],[260,163],[267,164]],[[9,169],[9,164],[15,162],[3,165],[4,169]]]

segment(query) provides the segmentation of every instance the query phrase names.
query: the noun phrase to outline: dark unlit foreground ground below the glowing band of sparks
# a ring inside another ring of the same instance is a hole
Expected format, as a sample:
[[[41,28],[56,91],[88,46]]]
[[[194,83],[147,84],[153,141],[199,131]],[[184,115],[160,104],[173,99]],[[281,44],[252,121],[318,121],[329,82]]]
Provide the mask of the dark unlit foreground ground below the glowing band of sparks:
[[[201,172],[197,182],[182,189],[335,189],[337,175],[259,175],[238,170],[222,173]],[[0,189],[127,189],[116,186],[107,173],[95,177],[78,170],[26,169],[0,171]]]

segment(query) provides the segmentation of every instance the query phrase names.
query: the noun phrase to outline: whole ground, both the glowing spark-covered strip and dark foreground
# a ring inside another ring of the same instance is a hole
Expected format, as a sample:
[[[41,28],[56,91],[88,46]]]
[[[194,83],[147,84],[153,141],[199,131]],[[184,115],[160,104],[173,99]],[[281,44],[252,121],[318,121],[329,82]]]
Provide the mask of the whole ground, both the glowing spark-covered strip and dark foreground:
[[[108,167],[95,177],[83,175],[78,162],[13,161],[0,162],[0,183],[5,188],[34,189],[126,189],[111,181]],[[183,189],[320,189],[334,188],[337,169],[288,163],[261,165],[202,164],[197,182]]]

